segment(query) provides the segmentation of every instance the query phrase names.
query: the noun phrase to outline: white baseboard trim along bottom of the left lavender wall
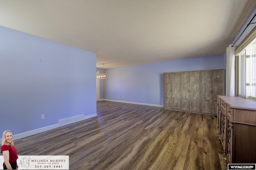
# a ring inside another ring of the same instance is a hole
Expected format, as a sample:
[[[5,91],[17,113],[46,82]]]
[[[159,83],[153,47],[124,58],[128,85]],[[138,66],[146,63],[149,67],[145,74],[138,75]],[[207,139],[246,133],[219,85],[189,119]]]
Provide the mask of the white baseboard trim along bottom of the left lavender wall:
[[[80,115],[79,115],[80,116]],[[92,117],[97,117],[97,113],[94,113],[92,115],[87,115],[87,116],[84,116],[84,119],[82,120],[85,120],[85,119],[90,119]],[[68,124],[71,124],[71,123],[75,123],[75,122],[78,122],[74,119],[74,117],[71,117],[71,119],[73,119],[74,121],[70,121],[68,122],[66,125]],[[63,119],[61,119],[63,120]],[[78,119],[77,119],[78,120]],[[79,120],[79,121],[82,121],[82,120]],[[62,125],[64,126],[64,125]],[[20,138],[24,138],[24,137],[27,137],[27,136],[31,136],[33,134],[37,134],[37,133],[40,133],[40,132],[45,132],[47,130],[52,130],[54,128],[58,128],[60,127],[59,123],[57,124],[54,124],[54,125],[50,125],[50,126],[47,126],[47,127],[42,127],[42,128],[38,128],[38,129],[34,129],[34,130],[30,130],[30,131],[27,131],[27,132],[23,132],[23,133],[20,133],[20,134],[14,134],[13,135],[13,138],[14,140],[17,140],[17,139],[20,139]],[[2,141],[2,138],[0,138],[0,140]]]

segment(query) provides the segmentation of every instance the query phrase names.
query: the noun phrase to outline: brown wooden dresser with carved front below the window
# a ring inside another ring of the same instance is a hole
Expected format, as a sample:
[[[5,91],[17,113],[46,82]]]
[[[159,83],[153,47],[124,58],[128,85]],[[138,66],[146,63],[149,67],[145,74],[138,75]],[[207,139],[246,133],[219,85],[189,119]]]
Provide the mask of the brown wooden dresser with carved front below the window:
[[[228,163],[256,163],[256,102],[217,96],[217,132]]]

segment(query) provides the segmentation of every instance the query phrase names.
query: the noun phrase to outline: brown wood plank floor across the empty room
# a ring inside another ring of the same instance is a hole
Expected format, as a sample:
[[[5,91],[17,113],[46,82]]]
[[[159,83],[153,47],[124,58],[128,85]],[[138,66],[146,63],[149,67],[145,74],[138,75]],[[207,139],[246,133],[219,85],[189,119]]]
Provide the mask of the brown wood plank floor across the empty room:
[[[18,155],[69,155],[70,170],[226,170],[215,116],[97,102],[98,117],[14,140]]]

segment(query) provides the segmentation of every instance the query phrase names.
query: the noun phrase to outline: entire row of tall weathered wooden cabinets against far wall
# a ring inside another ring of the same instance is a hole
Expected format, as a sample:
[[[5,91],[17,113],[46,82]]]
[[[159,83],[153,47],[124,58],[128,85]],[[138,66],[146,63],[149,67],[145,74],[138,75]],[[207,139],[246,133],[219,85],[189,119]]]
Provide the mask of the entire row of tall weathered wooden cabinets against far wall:
[[[164,109],[217,114],[224,88],[224,69],[164,73]]]

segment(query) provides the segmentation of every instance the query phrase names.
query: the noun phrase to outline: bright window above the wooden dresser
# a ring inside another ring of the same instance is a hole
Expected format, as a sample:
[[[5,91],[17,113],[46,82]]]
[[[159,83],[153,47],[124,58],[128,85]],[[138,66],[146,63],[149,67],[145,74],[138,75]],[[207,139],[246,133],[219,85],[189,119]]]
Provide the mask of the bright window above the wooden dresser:
[[[256,100],[256,39],[238,54],[238,96]]]

